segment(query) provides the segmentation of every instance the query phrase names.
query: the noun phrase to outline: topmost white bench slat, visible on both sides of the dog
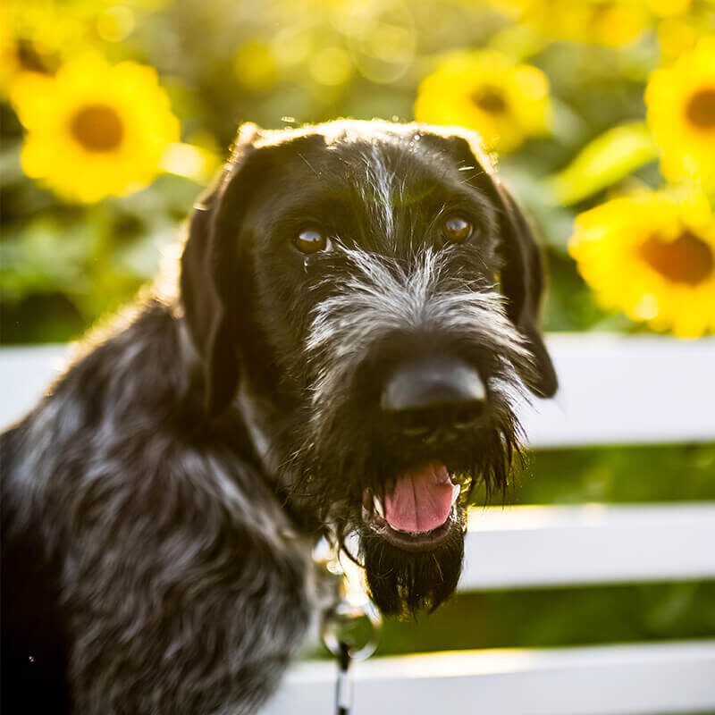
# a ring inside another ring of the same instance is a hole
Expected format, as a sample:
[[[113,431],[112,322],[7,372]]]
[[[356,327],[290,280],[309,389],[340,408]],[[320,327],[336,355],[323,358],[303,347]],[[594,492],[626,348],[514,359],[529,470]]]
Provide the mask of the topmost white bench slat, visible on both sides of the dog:
[[[715,441],[715,338],[551,333],[555,400],[521,410],[535,448]],[[63,345],[0,349],[0,427],[32,407]]]

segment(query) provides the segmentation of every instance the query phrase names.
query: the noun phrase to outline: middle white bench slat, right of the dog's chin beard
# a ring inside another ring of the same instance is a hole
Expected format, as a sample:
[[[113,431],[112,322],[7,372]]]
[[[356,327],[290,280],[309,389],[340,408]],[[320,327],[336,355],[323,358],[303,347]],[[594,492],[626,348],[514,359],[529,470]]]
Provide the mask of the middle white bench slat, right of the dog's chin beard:
[[[715,502],[472,509],[460,591],[715,577]]]

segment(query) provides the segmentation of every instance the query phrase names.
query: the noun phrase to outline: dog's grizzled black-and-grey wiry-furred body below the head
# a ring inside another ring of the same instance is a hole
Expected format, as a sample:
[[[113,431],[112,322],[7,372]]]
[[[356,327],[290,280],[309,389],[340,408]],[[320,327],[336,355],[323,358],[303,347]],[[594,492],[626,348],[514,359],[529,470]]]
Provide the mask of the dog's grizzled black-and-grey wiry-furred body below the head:
[[[149,304],[3,436],[4,566],[46,564],[39,583],[5,573],[4,606],[36,601],[65,631],[64,652],[47,653],[57,624],[22,633],[8,614],[5,645],[23,651],[4,653],[6,712],[63,711],[59,687],[33,692],[33,671],[62,677],[64,658],[72,711],[254,712],[300,643],[307,542],[240,421],[200,418],[180,327]],[[30,539],[41,552],[22,553]]]

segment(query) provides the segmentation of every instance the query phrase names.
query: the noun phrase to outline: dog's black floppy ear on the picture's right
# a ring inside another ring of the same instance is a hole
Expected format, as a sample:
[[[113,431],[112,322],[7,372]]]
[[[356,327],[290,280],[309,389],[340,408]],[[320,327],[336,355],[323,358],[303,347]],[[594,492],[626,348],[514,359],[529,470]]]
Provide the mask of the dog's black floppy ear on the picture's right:
[[[551,357],[539,330],[539,312],[543,296],[543,257],[524,214],[511,195],[492,176],[492,164],[480,148],[476,135],[466,130],[430,127],[425,139],[436,142],[443,152],[448,150],[459,167],[473,167],[469,180],[475,189],[492,201],[499,214],[501,235],[501,290],[507,299],[507,315],[526,340],[534,356],[534,371],[522,374],[527,387],[540,397],[552,397],[559,383]],[[482,169],[483,171],[479,171]]]

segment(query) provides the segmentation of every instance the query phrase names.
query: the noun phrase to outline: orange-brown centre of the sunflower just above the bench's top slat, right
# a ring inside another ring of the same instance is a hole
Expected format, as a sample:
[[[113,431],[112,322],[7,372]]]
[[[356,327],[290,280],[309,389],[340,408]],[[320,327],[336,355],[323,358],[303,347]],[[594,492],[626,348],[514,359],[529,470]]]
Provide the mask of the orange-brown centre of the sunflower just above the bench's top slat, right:
[[[671,241],[651,236],[641,244],[638,253],[645,263],[676,283],[693,286],[702,283],[715,267],[712,248],[690,231]]]

